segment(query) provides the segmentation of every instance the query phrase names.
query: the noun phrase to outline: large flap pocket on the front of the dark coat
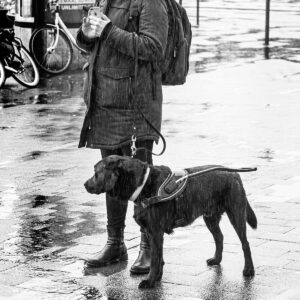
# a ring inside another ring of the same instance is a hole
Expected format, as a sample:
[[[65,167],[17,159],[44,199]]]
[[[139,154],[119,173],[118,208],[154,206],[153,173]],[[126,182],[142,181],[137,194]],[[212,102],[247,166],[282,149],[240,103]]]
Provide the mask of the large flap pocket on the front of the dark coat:
[[[99,68],[96,74],[96,102],[100,100],[99,104],[105,107],[128,108],[129,69]]]

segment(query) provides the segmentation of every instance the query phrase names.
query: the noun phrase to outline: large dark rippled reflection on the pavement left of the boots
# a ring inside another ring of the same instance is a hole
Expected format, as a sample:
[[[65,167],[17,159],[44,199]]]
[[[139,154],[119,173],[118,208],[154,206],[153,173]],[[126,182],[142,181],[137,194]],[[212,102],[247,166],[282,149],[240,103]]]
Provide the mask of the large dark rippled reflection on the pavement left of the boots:
[[[5,242],[6,255],[19,255],[30,262],[43,254],[65,250],[76,244],[75,240],[103,232],[99,216],[92,212],[72,212],[63,196],[33,195],[23,196],[16,210],[18,226],[14,237]],[[80,209],[80,208],[79,208]],[[103,227],[103,226],[102,226]]]

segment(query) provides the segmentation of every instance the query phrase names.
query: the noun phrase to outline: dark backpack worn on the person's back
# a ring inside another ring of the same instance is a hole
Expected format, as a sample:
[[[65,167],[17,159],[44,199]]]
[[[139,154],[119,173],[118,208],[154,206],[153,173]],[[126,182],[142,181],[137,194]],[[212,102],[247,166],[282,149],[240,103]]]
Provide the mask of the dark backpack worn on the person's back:
[[[138,1],[131,0],[130,16],[138,15]],[[150,0],[151,1],[151,0]],[[186,10],[175,0],[163,0],[168,8],[169,32],[164,60],[159,63],[163,85],[180,85],[186,81],[192,41],[191,23]]]

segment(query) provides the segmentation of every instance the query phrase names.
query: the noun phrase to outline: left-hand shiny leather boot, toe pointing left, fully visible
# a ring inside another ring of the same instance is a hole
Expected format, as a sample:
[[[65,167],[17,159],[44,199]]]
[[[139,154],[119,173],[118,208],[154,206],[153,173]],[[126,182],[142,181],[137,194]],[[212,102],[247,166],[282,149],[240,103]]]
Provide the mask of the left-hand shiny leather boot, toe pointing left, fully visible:
[[[124,228],[107,227],[108,239],[104,248],[94,257],[86,260],[86,266],[99,268],[119,261],[128,260],[127,248],[124,244]]]

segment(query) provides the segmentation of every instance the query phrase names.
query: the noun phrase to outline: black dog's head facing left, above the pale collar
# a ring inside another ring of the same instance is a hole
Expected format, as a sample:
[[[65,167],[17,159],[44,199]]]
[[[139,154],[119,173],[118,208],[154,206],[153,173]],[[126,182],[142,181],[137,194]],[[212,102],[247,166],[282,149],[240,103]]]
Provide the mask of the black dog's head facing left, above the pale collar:
[[[84,186],[91,194],[108,193],[121,200],[128,200],[135,189],[141,185],[147,163],[127,156],[111,155],[99,161],[95,174]]]

